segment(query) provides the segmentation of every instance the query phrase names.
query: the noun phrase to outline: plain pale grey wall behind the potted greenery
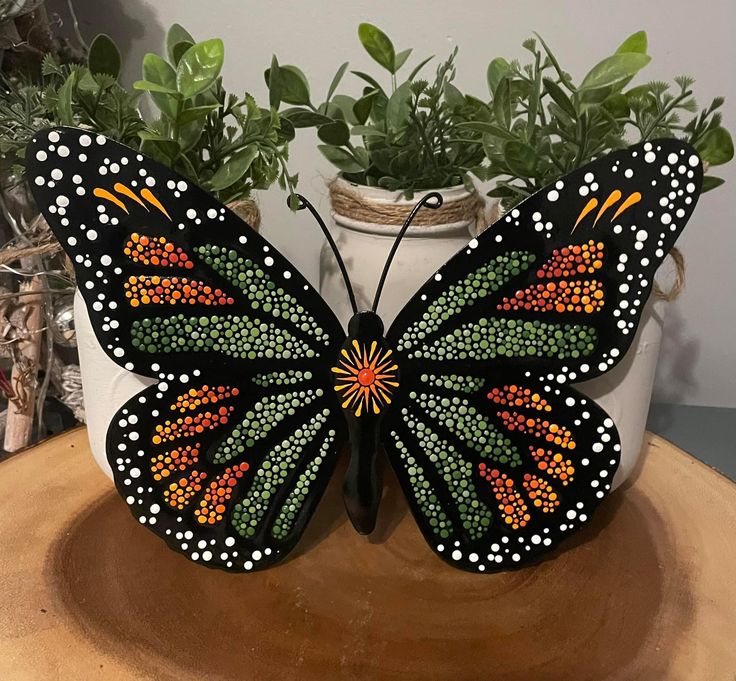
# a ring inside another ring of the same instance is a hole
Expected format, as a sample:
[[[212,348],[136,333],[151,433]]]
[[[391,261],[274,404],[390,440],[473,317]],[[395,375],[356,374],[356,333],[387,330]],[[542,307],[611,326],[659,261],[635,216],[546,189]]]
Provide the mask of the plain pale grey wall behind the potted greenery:
[[[65,14],[65,2],[50,1]],[[309,76],[320,100],[337,66],[376,70],[356,35],[361,21],[382,27],[398,49],[415,55],[446,54],[460,46],[458,85],[485,94],[485,68],[499,55],[525,58],[521,42],[540,32],[576,76],[612,52],[635,30],[649,34],[653,62],[647,79],[681,73],[695,76],[699,101],[727,98],[724,122],[736,130],[736,5],[733,0],[618,0],[555,2],[514,0],[74,0],[82,32],[112,35],[122,46],[125,77],[137,77],[142,55],[162,47],[166,28],[179,22],[197,39],[225,41],[224,76],[232,90],[248,90],[267,102],[263,70],[271,54],[295,63]],[[343,87],[358,82],[348,76]],[[325,179],[333,173],[315,148],[310,131],[293,145],[291,167],[300,191],[327,215]],[[655,399],[736,407],[736,163],[719,169],[727,184],[706,195],[680,241],[687,259],[687,288],[671,307]],[[317,281],[321,240],[306,216],[294,216],[274,189],[260,197],[264,232],[282,252]]]

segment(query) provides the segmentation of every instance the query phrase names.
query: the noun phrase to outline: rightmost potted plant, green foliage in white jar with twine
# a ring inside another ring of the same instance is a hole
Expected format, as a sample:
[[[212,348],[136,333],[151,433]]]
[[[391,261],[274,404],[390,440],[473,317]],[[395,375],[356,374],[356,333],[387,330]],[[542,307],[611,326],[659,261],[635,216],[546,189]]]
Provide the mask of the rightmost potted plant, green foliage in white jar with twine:
[[[495,181],[488,196],[502,210],[594,158],[647,139],[686,139],[708,170],[733,157],[731,136],[718,113],[722,98],[698,111],[692,78],[632,84],[651,59],[643,31],[629,36],[577,85],[541,37],[524,47],[532,55],[529,64],[497,58],[488,65],[490,120],[462,124],[483,135],[486,160],[476,173]],[[704,191],[722,183],[706,175]],[[667,293],[655,287],[627,356],[611,372],[580,386],[616,421],[622,456],[614,484],[630,474],[641,451],[666,303],[683,281],[682,256],[676,249],[672,256],[676,284]]]

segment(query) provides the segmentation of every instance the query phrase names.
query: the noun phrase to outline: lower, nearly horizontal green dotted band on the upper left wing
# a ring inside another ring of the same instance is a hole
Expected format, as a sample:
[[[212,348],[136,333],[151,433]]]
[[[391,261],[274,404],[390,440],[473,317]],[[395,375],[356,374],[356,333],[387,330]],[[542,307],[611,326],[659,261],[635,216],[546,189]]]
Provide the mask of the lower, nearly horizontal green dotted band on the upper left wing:
[[[249,360],[318,356],[288,331],[245,316],[151,317],[134,321],[130,335],[133,347],[152,354],[217,352]]]

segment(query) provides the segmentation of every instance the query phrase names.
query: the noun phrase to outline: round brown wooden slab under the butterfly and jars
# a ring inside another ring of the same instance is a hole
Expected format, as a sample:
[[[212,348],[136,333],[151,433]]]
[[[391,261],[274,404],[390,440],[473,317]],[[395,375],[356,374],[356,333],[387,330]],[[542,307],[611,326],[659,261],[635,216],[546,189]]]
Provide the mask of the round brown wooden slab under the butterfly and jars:
[[[389,486],[377,533],[336,487],[299,555],[229,575],[141,528],[84,430],[0,464],[0,678],[731,679],[736,486],[649,437],[634,484],[554,559],[455,571]]]

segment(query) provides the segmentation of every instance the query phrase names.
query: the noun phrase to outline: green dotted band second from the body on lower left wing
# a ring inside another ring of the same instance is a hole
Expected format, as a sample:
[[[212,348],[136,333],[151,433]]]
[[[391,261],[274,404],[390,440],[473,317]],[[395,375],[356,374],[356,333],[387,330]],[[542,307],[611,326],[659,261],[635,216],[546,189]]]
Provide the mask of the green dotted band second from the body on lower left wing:
[[[276,445],[256,471],[246,495],[232,513],[232,524],[241,537],[253,537],[258,532],[266,512],[284,481],[296,468],[304,450],[317,437],[327,422],[329,409],[324,409],[281,444]]]

